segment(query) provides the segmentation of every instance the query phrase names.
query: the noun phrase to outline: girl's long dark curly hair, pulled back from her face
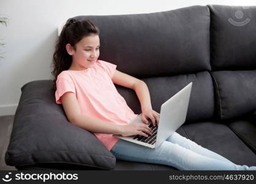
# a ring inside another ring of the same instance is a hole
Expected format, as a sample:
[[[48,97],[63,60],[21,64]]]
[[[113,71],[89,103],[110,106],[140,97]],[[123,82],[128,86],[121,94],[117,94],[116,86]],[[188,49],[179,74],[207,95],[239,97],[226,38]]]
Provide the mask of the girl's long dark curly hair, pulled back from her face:
[[[66,71],[72,64],[72,56],[66,51],[66,44],[71,44],[76,50],[77,42],[90,34],[99,35],[99,28],[90,20],[77,20],[69,18],[63,26],[58,40],[56,40],[55,52],[53,53],[52,75],[53,75],[53,90],[56,91],[56,80],[58,74]]]

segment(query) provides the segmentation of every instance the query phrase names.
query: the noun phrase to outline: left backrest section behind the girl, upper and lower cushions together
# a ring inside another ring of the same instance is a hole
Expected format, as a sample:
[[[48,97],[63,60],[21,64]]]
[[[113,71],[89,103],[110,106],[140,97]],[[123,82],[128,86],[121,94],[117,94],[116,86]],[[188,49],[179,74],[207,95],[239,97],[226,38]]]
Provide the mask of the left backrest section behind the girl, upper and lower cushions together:
[[[90,19],[99,27],[99,59],[147,83],[154,110],[160,112],[163,102],[193,82],[187,121],[214,116],[208,7],[76,18]],[[134,91],[122,86],[117,90],[135,113],[141,113]]]

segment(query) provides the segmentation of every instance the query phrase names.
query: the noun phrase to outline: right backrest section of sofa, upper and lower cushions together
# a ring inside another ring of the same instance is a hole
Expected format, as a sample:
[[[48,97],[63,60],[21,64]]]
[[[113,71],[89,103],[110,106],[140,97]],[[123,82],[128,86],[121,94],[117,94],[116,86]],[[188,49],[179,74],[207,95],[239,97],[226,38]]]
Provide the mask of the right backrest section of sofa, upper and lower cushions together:
[[[211,66],[220,119],[256,110],[256,6],[208,5]]]

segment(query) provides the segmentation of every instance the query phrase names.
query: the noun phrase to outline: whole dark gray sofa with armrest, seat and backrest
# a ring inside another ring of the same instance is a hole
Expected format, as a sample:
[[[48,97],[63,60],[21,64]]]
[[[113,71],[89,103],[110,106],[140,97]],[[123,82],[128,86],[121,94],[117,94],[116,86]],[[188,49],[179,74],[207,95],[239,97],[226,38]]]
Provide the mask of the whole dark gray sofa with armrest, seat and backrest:
[[[152,107],[193,82],[177,132],[236,164],[256,166],[256,7],[192,6],[136,15],[79,16],[101,30],[99,59],[147,83]],[[172,170],[120,161],[90,132],[71,125],[52,80],[22,88],[6,164],[17,169]],[[116,85],[135,113],[133,90]]]

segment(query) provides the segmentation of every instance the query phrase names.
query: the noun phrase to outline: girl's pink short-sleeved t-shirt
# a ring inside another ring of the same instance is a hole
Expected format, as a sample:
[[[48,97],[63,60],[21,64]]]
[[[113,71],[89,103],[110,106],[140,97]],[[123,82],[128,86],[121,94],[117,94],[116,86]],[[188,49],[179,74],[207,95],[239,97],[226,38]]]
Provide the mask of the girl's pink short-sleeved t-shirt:
[[[61,104],[60,97],[71,91],[76,94],[82,114],[109,123],[126,125],[138,114],[128,107],[112,82],[116,67],[115,64],[97,60],[95,66],[83,71],[61,72],[56,80],[56,103]],[[112,134],[94,134],[108,150],[118,141]]]

